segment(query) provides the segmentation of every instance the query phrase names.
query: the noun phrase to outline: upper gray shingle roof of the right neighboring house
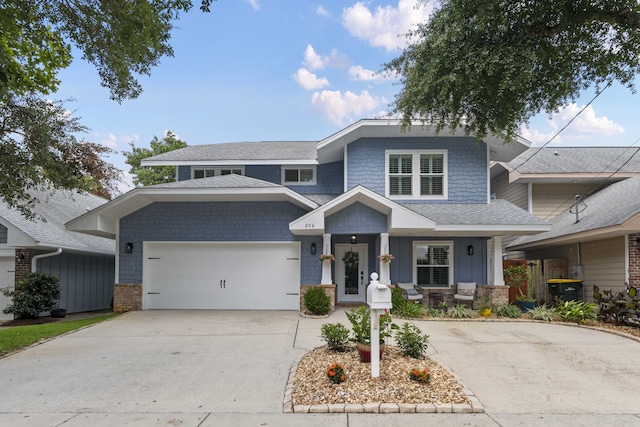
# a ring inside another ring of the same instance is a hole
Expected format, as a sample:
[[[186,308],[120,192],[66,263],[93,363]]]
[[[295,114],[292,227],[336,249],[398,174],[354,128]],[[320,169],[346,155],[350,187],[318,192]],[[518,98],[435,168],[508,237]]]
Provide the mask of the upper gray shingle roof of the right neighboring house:
[[[640,173],[640,148],[530,148],[508,165],[521,174]]]

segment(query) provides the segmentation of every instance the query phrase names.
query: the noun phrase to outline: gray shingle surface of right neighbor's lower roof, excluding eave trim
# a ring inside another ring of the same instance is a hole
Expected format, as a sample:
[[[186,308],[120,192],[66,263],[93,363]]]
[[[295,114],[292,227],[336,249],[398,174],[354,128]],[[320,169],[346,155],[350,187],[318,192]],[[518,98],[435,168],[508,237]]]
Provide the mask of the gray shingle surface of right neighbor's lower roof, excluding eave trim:
[[[640,213],[639,195],[640,177],[611,184],[584,199],[587,207],[579,213],[580,221],[578,223],[576,223],[575,213],[567,210],[550,221],[550,231],[534,236],[520,237],[511,246],[621,225]]]

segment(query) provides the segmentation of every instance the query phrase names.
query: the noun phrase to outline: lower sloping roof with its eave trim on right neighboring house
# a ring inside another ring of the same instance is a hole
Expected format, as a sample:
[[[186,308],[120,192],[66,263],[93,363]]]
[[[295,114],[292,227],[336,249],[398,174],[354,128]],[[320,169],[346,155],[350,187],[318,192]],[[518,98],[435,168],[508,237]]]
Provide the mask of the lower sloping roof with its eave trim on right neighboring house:
[[[551,230],[515,240],[509,249],[569,244],[621,236],[640,230],[640,177],[611,184],[584,199],[578,214],[567,210],[551,220]]]

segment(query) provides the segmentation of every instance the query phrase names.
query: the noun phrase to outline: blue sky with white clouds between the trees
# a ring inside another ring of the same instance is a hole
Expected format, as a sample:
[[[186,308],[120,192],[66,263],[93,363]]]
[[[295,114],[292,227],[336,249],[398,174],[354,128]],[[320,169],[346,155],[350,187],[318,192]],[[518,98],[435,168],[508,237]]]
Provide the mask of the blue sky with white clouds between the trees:
[[[132,183],[122,152],[130,143],[149,147],[167,131],[188,145],[317,141],[385,116],[400,86],[381,70],[406,45],[403,35],[432,13],[415,0],[217,0],[210,13],[193,2],[175,23],[174,57],[139,78],[137,99],[110,100],[80,54],[59,74],[53,98],[69,100],[90,128],[85,139],[118,152],[108,161],[125,172],[123,192]],[[521,135],[533,146],[548,143],[594,95],[534,117]],[[549,146],[640,146],[639,96],[614,84]]]

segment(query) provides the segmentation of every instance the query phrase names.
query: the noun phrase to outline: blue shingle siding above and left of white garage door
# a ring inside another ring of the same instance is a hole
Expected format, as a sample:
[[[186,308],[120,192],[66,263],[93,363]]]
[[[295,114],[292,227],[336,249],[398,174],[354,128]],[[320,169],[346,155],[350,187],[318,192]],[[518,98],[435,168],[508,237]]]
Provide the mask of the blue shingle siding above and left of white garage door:
[[[120,220],[119,281],[142,283],[143,241],[298,241],[289,222],[305,213],[287,202],[153,203]]]

